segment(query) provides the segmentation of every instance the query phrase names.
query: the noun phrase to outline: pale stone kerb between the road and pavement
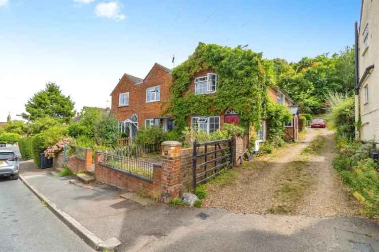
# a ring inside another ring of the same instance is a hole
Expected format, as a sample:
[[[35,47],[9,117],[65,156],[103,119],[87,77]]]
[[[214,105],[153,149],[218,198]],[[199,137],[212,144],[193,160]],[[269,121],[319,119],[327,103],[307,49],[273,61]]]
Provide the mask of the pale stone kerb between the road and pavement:
[[[77,220],[72,218],[68,213],[58,208],[57,205],[44,196],[32,184],[25,180],[22,175],[19,175],[21,181],[32,191],[40,201],[44,202],[46,206],[61,220],[63,221],[76,235],[85,241],[89,246],[97,251],[114,250],[117,246],[121,245],[121,241],[117,237],[110,237],[103,241],[98,236],[93,234],[87,228],[82,226]]]

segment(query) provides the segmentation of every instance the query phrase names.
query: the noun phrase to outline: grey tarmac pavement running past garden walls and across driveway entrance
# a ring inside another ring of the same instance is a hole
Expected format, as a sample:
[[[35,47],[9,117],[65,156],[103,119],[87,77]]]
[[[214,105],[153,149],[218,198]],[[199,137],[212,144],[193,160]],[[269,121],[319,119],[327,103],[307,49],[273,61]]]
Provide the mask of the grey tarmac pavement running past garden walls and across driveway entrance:
[[[117,237],[122,242],[117,251],[379,251],[378,225],[367,218],[142,206],[121,198],[125,192],[119,188],[73,184],[69,181],[74,177],[53,177],[31,161],[21,164],[21,174],[99,238]]]

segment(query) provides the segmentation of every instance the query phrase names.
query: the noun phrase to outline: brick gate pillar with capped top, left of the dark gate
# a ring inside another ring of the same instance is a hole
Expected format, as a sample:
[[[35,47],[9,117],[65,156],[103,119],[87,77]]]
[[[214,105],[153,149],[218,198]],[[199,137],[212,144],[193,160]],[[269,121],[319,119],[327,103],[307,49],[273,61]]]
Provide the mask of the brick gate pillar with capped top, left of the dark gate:
[[[162,143],[162,201],[169,203],[180,192],[181,143],[165,141]]]

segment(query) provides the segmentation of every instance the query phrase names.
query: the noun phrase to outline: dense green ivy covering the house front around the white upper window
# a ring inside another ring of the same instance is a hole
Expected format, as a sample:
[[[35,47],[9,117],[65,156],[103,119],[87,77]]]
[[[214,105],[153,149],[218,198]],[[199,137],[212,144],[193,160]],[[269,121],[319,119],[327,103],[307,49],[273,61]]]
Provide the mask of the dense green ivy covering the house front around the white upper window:
[[[195,52],[172,71],[172,99],[169,111],[175,116],[175,131],[181,133],[191,114],[214,115],[231,108],[240,113],[244,126],[258,125],[264,117],[266,73],[262,53],[251,50],[199,43]],[[188,91],[194,75],[213,70],[218,74],[215,94],[195,95]]]

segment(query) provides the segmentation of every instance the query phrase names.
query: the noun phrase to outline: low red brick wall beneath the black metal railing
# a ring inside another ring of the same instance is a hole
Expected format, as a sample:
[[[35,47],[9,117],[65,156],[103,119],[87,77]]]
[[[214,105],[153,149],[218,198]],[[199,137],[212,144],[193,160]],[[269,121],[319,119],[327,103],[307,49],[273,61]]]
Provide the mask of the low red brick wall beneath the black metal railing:
[[[94,174],[96,180],[137,193],[139,195],[149,196],[157,201],[160,200],[162,175],[161,165],[153,165],[153,180],[150,180],[137,174],[132,174],[127,171],[110,167],[105,165],[102,161],[103,154],[101,152],[96,152],[94,160]]]

